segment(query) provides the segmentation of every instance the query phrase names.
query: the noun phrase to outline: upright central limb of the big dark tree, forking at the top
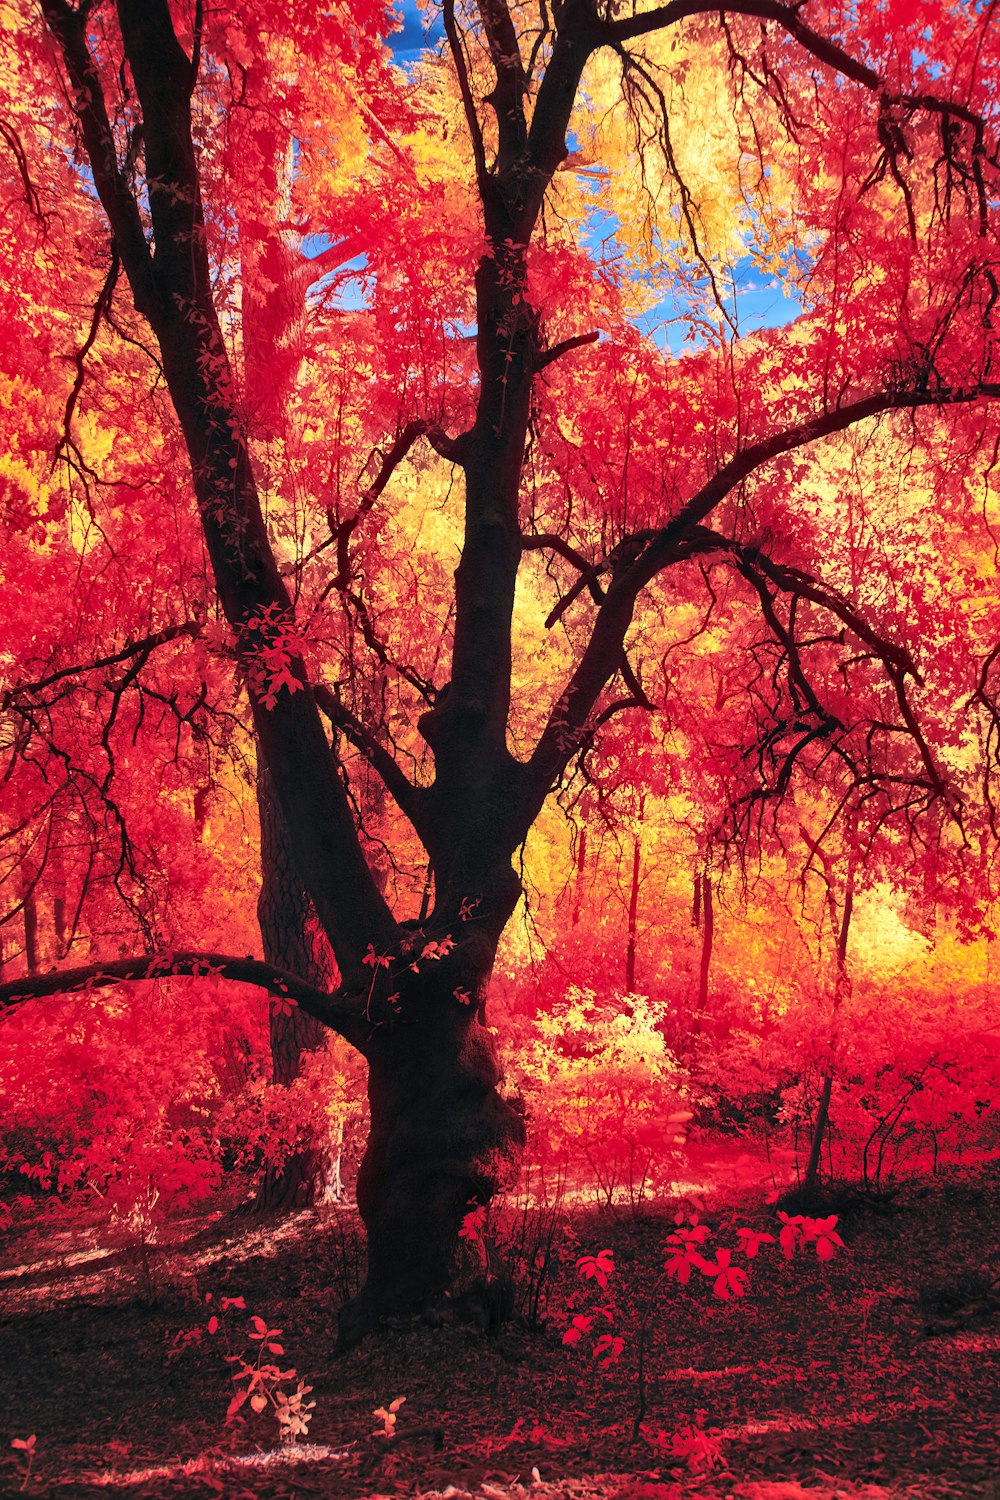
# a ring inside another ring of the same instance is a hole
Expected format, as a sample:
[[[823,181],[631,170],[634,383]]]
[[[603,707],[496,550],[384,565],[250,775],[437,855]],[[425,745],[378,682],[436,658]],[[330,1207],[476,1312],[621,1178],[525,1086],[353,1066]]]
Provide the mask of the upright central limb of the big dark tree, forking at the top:
[[[496,87],[489,96],[498,118],[498,154],[486,170],[477,154],[487,252],[477,290],[480,393],[466,435],[465,537],[456,572],[451,684],[421,718],[435,752],[436,776],[448,800],[471,788],[486,766],[505,768],[510,717],[511,612],[520,562],[519,488],[540,348],[540,318],[526,291],[528,244],[546,188],[565,156],[565,130],[586,58],[594,48],[591,0],[567,0],[541,80],[531,128],[525,123],[526,76],[508,0],[480,0]],[[462,50],[445,26],[459,66]],[[466,114],[474,102],[460,86]],[[478,126],[471,118],[471,129]],[[480,770],[475,762],[480,760]],[[504,771],[505,774],[505,771]],[[444,795],[444,794],[442,794]],[[466,819],[468,820],[468,819]]]

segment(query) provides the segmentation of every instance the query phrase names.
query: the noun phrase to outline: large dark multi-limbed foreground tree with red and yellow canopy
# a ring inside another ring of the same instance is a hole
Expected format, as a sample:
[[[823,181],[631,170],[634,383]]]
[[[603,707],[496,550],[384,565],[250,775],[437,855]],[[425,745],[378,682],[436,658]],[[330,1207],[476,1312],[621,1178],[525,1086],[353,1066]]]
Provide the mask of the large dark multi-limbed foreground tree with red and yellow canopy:
[[[0,993],[15,1004],[208,963],[351,1041],[367,1059],[372,1130],[358,1180],[367,1284],[346,1336],[439,1294],[469,1202],[516,1168],[523,1119],[498,1090],[486,998],[522,894],[517,850],[609,720],[654,705],[654,676],[678,700],[682,758],[705,738],[697,704],[712,682],[724,732],[705,748],[738,825],[799,777],[834,812],[877,798],[903,840],[927,824],[961,843],[982,801],[955,723],[963,694],[978,692],[972,729],[996,753],[985,536],[972,536],[969,504],[975,484],[991,494],[1000,394],[991,9],[918,8],[919,46],[910,0],[864,14],[813,0],[723,12],[444,0],[441,20],[442,57],[403,76],[375,0],[349,18],[39,0],[3,114],[22,243],[40,242],[46,214],[54,238],[73,225],[58,276],[69,321],[90,332],[63,458],[99,500],[70,428],[85,357],[100,336],[108,368],[151,360],[133,420],[156,434],[159,474],[136,458],[150,492],[133,504],[159,534],[153,486],[178,514],[193,492],[256,754],[339,987],[175,950]],[[274,164],[289,153],[292,202],[274,236]],[[351,153],[367,186],[337,177],[331,164]],[[321,284],[304,306],[294,255],[307,260],[310,236],[342,279],[366,254],[354,304]],[[750,268],[801,308],[787,327],[745,333]],[[12,272],[15,288],[33,285],[28,258]],[[16,296],[30,327],[28,292]],[[687,346],[640,332],[657,306]],[[231,351],[241,336],[259,370],[247,320],[261,316],[274,318],[265,345],[291,354],[274,360],[255,428]],[[36,375],[30,390],[66,388]],[[123,441],[126,390],[109,381],[93,417]],[[277,460],[267,450],[286,418],[301,424],[301,525],[271,483],[271,465],[291,471],[288,441]],[[349,502],[351,444],[357,470],[379,423]],[[316,428],[336,450],[324,474],[309,472]],[[171,468],[178,442],[189,478]],[[888,520],[891,474],[876,484],[876,464],[898,478]],[[418,604],[447,668],[403,608],[418,544],[403,536],[403,482],[433,489],[442,465],[460,561],[451,585],[447,550],[423,560]],[[379,510],[390,500],[394,516]],[[181,532],[193,590],[198,546]],[[154,596],[147,561],[133,536],[127,566]],[[324,580],[307,586],[307,568]],[[541,676],[519,580],[552,600]],[[169,608],[180,594],[166,588]],[[339,624],[321,612],[330,598]],[[105,614],[114,640],[96,656],[124,663],[115,706],[165,630],[174,645],[204,634],[204,615],[160,624],[160,603],[157,628],[121,646]],[[391,680],[391,712],[376,680]],[[6,700],[21,759],[43,729],[28,700]],[[426,852],[426,910],[394,909],[373,873],[357,756],[408,825],[393,834],[400,861],[417,867],[414,840]]]

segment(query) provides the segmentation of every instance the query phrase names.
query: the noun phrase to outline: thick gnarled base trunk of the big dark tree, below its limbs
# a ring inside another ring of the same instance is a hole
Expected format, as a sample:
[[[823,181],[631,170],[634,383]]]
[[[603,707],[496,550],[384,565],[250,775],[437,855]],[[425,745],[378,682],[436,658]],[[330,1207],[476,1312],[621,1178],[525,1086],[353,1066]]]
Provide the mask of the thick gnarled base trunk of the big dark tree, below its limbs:
[[[498,1092],[496,1044],[481,1010],[487,980],[457,954],[426,963],[393,981],[396,1014],[373,1029],[372,1126],[357,1186],[367,1281],[340,1311],[342,1344],[385,1316],[439,1302],[463,1215],[517,1173],[525,1119]]]

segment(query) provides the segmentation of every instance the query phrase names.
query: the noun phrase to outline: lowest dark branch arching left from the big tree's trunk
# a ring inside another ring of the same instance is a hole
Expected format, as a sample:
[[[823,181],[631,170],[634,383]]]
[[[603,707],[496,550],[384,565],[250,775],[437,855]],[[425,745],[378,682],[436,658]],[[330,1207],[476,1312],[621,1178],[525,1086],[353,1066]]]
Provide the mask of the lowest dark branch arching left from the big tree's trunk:
[[[79,992],[88,994],[111,984],[126,984],[130,980],[174,978],[220,978],[232,980],[237,984],[253,984],[279,1000],[294,1000],[307,1016],[315,1016],[318,1022],[336,1030],[355,1047],[369,1030],[364,1020],[364,1005],[318,990],[295,974],[274,969],[259,958],[235,958],[229,954],[190,950],[112,958],[109,963],[85,963],[76,969],[10,980],[7,984],[0,984],[0,1010],[12,1010],[25,1000],[46,999],[54,994]]]

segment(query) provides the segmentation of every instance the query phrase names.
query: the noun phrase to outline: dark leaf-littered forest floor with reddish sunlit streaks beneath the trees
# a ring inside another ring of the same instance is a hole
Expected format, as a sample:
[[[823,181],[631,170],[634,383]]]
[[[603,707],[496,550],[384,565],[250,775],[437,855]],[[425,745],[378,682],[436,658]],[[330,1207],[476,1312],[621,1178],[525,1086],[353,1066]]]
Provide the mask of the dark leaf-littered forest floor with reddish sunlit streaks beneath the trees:
[[[664,1276],[676,1208],[528,1210],[511,1232],[552,1250],[546,1282],[522,1281],[541,1326],[415,1320],[340,1356],[349,1210],[207,1215],[145,1250],[93,1215],[15,1224],[0,1244],[0,1494],[1000,1500],[1000,1162],[912,1182],[880,1212],[844,1208],[832,1262],[763,1246],[739,1300]],[[726,1185],[703,1218],[720,1244],[780,1228],[760,1191]],[[615,1257],[604,1292],[576,1270],[600,1250]],[[613,1322],[598,1312],[564,1346],[574,1312],[601,1304]],[[255,1360],[252,1316],[283,1330],[264,1358],[297,1371],[285,1389],[312,1386],[300,1446],[280,1446],[270,1407],[226,1426],[226,1354]],[[607,1368],[603,1330],[624,1341]],[[373,1413],[399,1396],[390,1440]],[[10,1446],[31,1434],[31,1455]]]

